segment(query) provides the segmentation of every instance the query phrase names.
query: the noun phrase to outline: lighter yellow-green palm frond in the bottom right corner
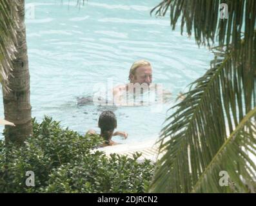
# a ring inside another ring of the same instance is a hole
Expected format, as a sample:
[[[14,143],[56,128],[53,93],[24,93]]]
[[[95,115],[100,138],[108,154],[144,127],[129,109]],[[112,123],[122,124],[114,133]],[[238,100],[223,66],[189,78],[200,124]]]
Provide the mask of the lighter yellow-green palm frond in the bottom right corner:
[[[251,192],[256,189],[256,108],[252,109],[228,136],[212,162],[206,167],[193,187],[193,192],[221,192],[220,171],[226,171],[230,191]],[[211,178],[208,178],[210,176]],[[256,191],[253,191],[256,192]]]

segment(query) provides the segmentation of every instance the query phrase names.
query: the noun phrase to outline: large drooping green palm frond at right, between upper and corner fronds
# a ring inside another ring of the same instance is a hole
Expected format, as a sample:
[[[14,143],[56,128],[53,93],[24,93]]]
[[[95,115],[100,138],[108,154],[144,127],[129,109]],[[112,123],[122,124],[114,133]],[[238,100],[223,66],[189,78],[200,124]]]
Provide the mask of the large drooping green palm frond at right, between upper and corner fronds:
[[[244,51],[246,46],[241,45],[241,51]],[[177,110],[167,118],[169,123],[162,129],[160,153],[164,155],[158,162],[152,191],[191,192],[202,176],[208,178],[208,182],[216,181],[211,173],[206,173],[206,169],[229,139],[229,134],[240,131],[239,125],[256,106],[255,70],[248,70],[242,58],[234,67],[236,57],[230,46],[225,50],[215,48],[213,52],[212,68],[193,82],[190,91],[185,94],[186,98],[174,107]],[[253,131],[252,126],[248,128]],[[232,145],[231,148],[241,151],[240,147]],[[248,141],[248,147],[256,152],[252,142],[249,144]],[[244,157],[250,160],[245,153]],[[231,163],[240,161],[239,165],[244,165],[240,156],[230,158]],[[218,163],[216,168],[230,171],[224,164]],[[244,178],[250,179],[245,172]],[[212,188],[214,192],[223,190],[223,187]]]

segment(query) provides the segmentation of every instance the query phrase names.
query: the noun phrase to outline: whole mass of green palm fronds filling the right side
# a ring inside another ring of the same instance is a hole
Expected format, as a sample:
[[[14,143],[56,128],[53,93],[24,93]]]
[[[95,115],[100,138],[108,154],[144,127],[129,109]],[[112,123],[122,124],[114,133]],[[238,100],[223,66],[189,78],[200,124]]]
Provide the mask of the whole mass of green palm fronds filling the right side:
[[[221,3],[228,19],[219,18]],[[180,18],[181,33],[186,26],[199,46],[217,46],[211,68],[166,120],[151,191],[256,192],[256,1],[165,0],[152,10],[168,11],[173,29]]]

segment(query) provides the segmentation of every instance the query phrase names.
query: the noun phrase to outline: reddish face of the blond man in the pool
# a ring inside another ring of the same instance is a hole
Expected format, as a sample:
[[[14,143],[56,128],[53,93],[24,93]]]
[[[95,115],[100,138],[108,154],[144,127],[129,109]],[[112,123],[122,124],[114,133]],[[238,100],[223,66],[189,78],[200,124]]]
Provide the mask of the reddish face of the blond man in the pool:
[[[140,66],[135,71],[135,75],[131,75],[131,83],[152,83],[152,68],[151,66]]]

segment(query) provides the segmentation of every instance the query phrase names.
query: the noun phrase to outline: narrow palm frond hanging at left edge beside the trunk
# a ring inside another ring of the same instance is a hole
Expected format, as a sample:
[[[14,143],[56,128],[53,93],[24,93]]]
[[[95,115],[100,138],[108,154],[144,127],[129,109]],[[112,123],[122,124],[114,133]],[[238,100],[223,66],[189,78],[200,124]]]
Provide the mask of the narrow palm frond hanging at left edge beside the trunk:
[[[15,59],[15,1],[0,1],[0,82],[3,89],[8,89],[8,77]]]

